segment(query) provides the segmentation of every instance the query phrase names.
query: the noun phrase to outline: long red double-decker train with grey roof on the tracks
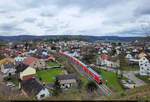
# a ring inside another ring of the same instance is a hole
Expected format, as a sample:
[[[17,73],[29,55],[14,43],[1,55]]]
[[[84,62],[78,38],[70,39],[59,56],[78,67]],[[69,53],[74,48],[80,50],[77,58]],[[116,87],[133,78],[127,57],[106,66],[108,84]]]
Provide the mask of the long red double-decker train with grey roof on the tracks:
[[[92,77],[98,84],[103,84],[103,79],[101,75],[99,75],[97,72],[95,72],[93,69],[87,67],[84,63],[79,61],[77,58],[72,57],[70,54],[67,54],[65,52],[60,52],[61,55],[65,56],[66,58],[72,60],[74,63],[79,65],[83,70],[89,74],[90,77]]]

